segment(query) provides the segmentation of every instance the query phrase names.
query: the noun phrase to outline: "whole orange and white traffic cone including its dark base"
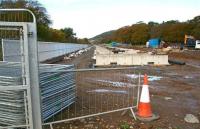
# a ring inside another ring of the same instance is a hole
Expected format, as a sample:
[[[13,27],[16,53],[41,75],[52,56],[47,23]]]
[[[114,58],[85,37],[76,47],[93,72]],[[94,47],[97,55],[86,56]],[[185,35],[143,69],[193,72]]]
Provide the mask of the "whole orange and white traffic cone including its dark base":
[[[159,116],[153,114],[151,110],[148,77],[146,74],[144,75],[144,84],[142,86],[140,102],[138,105],[137,118],[142,121],[151,121],[159,118]]]

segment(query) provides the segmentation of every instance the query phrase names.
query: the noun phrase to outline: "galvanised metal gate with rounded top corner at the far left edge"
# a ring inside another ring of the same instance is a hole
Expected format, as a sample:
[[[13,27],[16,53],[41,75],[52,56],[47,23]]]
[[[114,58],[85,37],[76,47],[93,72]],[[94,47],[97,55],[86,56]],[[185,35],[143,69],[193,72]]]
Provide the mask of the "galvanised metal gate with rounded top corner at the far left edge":
[[[0,9],[0,40],[19,40],[19,48],[10,55],[16,62],[0,62],[0,128],[31,128],[32,110],[26,22],[34,16],[25,9]],[[2,44],[1,44],[2,45]],[[0,48],[1,49],[1,48]],[[4,50],[1,50],[3,53]],[[0,54],[1,59],[2,53]]]

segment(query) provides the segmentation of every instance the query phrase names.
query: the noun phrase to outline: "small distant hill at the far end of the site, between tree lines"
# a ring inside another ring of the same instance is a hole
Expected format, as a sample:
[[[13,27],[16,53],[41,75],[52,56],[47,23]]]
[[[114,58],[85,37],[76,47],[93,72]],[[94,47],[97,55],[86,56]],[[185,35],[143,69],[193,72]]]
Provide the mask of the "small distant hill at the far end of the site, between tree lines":
[[[91,42],[94,43],[105,43],[107,42],[109,39],[112,38],[113,34],[114,34],[115,30],[110,30],[104,33],[101,33],[93,38],[90,39]]]

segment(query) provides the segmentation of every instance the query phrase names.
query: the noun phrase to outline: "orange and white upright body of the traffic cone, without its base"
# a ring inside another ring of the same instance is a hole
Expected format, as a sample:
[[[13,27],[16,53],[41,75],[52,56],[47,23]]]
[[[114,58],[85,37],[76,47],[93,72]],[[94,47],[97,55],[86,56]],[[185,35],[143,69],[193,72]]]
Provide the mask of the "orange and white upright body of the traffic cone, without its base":
[[[142,93],[140,97],[137,115],[140,117],[151,117],[153,115],[151,111],[148,78],[146,74],[144,75],[144,84],[142,86]]]

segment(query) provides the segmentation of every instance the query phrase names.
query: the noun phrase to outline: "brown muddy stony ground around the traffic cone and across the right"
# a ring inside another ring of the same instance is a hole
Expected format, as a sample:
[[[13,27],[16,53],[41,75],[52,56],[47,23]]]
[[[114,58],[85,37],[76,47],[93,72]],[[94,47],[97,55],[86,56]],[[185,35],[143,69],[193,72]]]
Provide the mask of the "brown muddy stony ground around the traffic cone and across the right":
[[[81,56],[78,56],[77,58],[72,60],[63,60],[58,63],[75,64],[76,68],[90,68],[92,67],[92,63],[94,63],[92,56],[93,49],[82,54]],[[199,57],[200,51],[170,53],[170,59],[185,61],[186,64],[189,65],[137,66],[137,70],[139,70],[142,74],[147,73],[148,75],[162,77],[160,80],[149,82],[152,109],[153,112],[160,115],[159,120],[153,122],[141,122],[134,120],[132,117],[130,117],[130,112],[128,111],[127,113],[116,112],[100,115],[97,117],[85,118],[82,120],[55,124],[54,128],[200,129],[200,124],[191,124],[184,121],[186,114],[193,114],[198,119],[200,119],[200,68],[198,67],[200,65]],[[92,74],[92,78],[97,76],[97,74],[96,76],[93,76]],[[104,76],[110,77],[109,74]],[[84,82],[84,79],[88,77],[91,77],[91,74],[84,74],[84,76],[81,76],[82,81],[80,82]],[[78,78],[78,80],[79,79],[80,78]],[[127,82],[127,80],[125,79],[124,82]],[[84,84],[87,84],[88,86],[88,83]],[[87,86],[84,84],[83,86],[87,88]],[[88,87],[91,86],[92,85]],[[113,90],[113,88],[111,89]],[[103,99],[106,99],[106,94],[104,94],[104,97],[105,98]],[[91,102],[97,101],[91,99]],[[67,115],[69,112],[70,110],[66,110],[62,115]]]

